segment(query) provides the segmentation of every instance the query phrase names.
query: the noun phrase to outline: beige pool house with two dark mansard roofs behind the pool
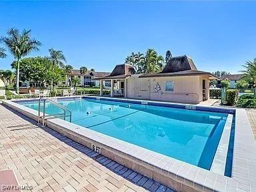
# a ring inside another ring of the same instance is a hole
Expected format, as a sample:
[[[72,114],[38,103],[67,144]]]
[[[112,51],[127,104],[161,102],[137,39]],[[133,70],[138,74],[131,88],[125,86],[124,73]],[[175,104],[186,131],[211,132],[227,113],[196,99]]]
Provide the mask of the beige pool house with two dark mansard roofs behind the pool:
[[[132,65],[122,64],[96,79],[111,80],[111,97],[199,103],[209,99],[209,81],[218,77],[197,70],[193,60],[183,55],[172,57],[159,73],[135,74]]]

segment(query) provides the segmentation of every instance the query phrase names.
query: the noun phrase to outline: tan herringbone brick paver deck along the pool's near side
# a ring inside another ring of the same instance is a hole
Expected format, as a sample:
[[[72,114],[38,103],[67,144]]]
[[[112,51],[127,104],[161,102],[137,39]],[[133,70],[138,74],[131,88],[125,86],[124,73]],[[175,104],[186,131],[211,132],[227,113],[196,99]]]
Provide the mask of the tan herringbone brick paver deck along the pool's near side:
[[[171,191],[0,105],[0,171],[32,191]]]

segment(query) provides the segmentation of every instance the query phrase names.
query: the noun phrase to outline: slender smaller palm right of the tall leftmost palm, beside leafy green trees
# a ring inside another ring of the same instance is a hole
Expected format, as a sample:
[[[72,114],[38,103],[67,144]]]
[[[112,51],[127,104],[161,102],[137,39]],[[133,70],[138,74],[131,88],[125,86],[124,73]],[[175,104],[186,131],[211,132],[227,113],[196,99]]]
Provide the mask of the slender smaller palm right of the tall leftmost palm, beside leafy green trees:
[[[49,49],[50,56],[48,57],[51,61],[51,73],[53,74],[53,71],[55,67],[65,67],[64,63],[66,63],[66,58],[62,51],[54,50],[53,48]],[[53,90],[53,76],[51,78],[51,91]]]

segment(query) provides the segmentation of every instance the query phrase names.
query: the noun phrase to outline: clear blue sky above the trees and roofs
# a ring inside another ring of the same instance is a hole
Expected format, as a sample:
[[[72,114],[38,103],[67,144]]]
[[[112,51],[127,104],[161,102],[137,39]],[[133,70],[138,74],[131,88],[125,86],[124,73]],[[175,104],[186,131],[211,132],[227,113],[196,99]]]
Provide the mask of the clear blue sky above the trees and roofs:
[[[256,2],[0,1],[0,36],[31,29],[40,51],[65,53],[67,63],[112,71],[132,51],[189,55],[199,70],[243,69],[256,57]],[[13,57],[0,59],[10,69]]]

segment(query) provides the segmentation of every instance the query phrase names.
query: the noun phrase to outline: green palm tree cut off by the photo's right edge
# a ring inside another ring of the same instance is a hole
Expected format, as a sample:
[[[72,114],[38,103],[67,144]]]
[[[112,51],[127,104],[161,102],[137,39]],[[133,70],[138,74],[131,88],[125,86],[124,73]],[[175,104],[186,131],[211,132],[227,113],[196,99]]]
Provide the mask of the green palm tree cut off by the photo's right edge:
[[[256,87],[256,58],[253,61],[246,61],[245,70],[241,71],[243,73],[242,79],[245,79],[248,83],[253,85],[253,88]]]

